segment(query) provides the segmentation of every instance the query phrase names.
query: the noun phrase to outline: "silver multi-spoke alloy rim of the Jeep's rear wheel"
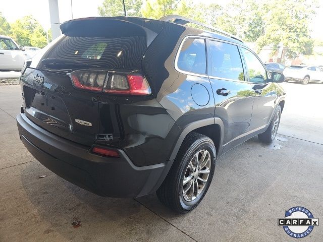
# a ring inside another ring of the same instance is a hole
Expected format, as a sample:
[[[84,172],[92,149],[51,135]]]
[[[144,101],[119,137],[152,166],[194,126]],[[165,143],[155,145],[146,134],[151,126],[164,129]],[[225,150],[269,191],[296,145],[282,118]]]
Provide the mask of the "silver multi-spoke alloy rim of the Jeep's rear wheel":
[[[190,160],[183,178],[183,197],[195,200],[205,188],[211,168],[211,156],[207,150],[198,151]]]

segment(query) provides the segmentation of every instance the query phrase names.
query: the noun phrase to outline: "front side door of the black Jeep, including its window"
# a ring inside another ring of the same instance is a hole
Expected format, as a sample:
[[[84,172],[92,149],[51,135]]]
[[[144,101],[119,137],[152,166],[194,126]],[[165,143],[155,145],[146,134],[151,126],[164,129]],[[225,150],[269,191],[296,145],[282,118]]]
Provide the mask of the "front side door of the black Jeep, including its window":
[[[254,132],[270,123],[277,99],[276,85],[268,82],[268,74],[260,59],[251,50],[243,47],[241,50],[255,96],[250,123],[250,132]]]

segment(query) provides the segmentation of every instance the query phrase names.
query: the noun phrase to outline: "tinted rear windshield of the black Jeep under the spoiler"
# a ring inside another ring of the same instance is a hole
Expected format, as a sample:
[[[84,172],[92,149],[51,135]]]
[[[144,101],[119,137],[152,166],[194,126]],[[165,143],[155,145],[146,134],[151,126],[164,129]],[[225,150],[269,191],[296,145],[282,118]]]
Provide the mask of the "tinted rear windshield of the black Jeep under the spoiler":
[[[68,59],[98,68],[140,69],[146,48],[144,36],[65,36],[48,52],[46,58]]]

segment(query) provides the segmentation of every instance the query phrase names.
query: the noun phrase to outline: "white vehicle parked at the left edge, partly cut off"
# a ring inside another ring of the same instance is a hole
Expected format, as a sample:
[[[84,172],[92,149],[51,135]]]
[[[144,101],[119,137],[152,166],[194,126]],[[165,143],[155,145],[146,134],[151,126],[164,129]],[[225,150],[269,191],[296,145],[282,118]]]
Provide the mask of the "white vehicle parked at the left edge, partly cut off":
[[[0,35],[0,71],[21,70],[25,54],[9,36]]]

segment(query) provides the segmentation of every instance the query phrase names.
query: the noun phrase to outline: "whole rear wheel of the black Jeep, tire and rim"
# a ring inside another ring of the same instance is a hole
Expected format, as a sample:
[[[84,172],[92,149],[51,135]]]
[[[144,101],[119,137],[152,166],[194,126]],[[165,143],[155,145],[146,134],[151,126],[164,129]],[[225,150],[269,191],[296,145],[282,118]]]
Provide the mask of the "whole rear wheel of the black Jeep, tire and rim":
[[[202,160],[204,154],[205,159]],[[191,211],[204,198],[211,184],[215,166],[216,148],[213,141],[205,135],[188,134],[163,184],[156,191],[158,199],[177,213]]]

